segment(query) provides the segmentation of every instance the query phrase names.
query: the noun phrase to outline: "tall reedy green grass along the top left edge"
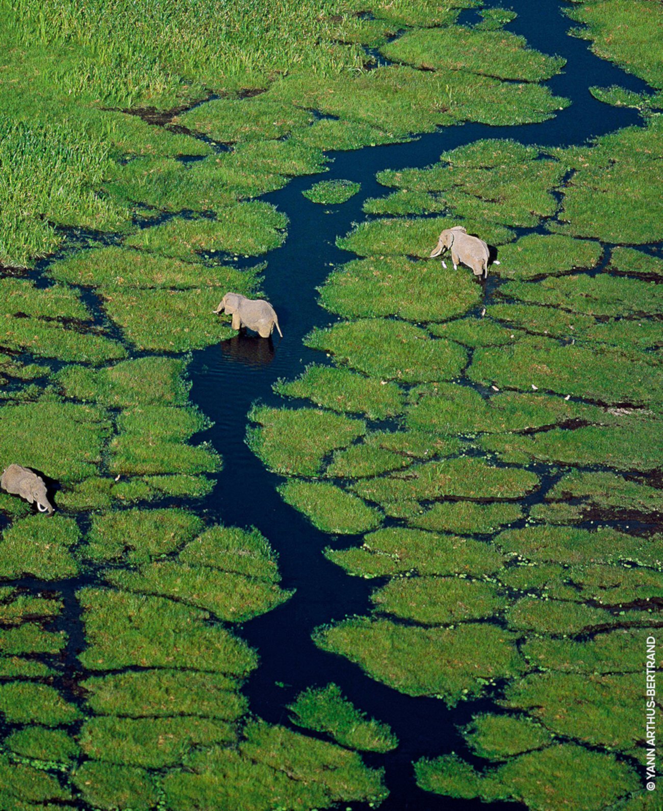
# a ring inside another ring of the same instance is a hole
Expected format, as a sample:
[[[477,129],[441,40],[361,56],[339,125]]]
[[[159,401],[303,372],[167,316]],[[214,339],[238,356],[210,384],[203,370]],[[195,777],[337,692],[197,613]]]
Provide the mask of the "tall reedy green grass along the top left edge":
[[[361,65],[356,45],[332,41],[336,0],[2,0],[20,45],[75,46],[80,70],[57,84],[131,104],[183,83],[218,87],[229,75]]]

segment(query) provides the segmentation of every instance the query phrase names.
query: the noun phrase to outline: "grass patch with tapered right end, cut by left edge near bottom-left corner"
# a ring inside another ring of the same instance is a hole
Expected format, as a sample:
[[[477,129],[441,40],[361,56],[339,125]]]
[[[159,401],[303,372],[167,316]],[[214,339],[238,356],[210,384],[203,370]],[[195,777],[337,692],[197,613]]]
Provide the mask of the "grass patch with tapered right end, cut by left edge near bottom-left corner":
[[[82,716],[49,684],[31,681],[0,684],[0,713],[8,723],[41,723],[45,727],[73,723]]]

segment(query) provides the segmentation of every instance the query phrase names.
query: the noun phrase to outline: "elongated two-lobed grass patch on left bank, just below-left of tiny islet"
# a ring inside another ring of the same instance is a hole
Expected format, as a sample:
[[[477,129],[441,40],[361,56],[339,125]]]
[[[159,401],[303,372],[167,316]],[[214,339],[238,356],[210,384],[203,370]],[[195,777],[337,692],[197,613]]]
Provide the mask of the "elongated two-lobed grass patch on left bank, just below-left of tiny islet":
[[[268,203],[238,203],[220,208],[215,220],[175,218],[144,229],[126,245],[180,259],[212,251],[255,256],[279,247],[287,224],[288,218]]]

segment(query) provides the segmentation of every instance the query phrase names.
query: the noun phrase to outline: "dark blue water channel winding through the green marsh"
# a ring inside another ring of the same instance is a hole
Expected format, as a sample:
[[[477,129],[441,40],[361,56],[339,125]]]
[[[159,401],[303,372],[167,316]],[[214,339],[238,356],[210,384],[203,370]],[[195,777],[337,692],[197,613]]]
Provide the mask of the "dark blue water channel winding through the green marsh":
[[[411,762],[422,755],[461,748],[455,725],[467,723],[471,714],[489,702],[472,702],[449,711],[443,702],[411,698],[370,680],[345,659],[318,650],[310,639],[313,629],[346,615],[369,611],[374,581],[349,577],[322,555],[327,545],[347,547],[357,538],[336,538],[316,530],[296,510],[284,504],[276,492],[282,478],[268,473],[244,443],[246,414],[260,400],[272,405],[284,401],[272,393],[279,377],[292,379],[308,363],[324,363],[323,353],[306,349],[302,338],[314,326],[323,326],[333,316],[319,307],[316,285],[331,266],[353,258],[335,245],[337,235],[347,233],[361,221],[361,203],[382,195],[374,175],[380,169],[426,166],[441,152],[479,138],[513,138],[526,144],[563,146],[582,144],[592,136],[639,122],[635,110],[603,105],[588,92],[588,86],[621,84],[634,90],[644,83],[601,61],[588,50],[588,42],[567,36],[573,25],[560,12],[557,0],[517,0],[507,4],[518,17],[508,28],[523,34],[528,43],[547,54],[567,58],[562,75],[550,80],[558,95],[573,104],[552,121],[521,127],[487,127],[465,124],[424,135],[409,144],[364,148],[332,153],[325,179],[347,178],[361,182],[361,195],[340,206],[310,203],[302,189],[319,178],[295,178],[284,189],[263,199],[276,204],[290,218],[289,235],[283,247],[267,255],[263,288],[279,314],[284,333],[273,345],[257,337],[235,337],[221,345],[194,353],[190,364],[192,400],[215,421],[202,438],[211,440],[224,458],[224,470],[203,507],[210,517],[228,525],[256,526],[280,556],[283,586],[296,593],[284,606],[251,620],[242,636],[259,650],[261,664],[246,689],[250,706],[270,722],[287,723],[284,705],[301,689],[335,681],[344,693],[369,714],[389,723],[400,738],[395,753],[366,758],[387,767],[391,796],[384,811],[434,811],[478,809],[485,804],[454,801],[421,792],[414,783]],[[310,405],[310,404],[309,404]],[[353,808],[360,808],[353,805]],[[362,807],[362,806],[361,806]],[[494,804],[507,808],[507,804]],[[513,808],[512,804],[508,805]]]

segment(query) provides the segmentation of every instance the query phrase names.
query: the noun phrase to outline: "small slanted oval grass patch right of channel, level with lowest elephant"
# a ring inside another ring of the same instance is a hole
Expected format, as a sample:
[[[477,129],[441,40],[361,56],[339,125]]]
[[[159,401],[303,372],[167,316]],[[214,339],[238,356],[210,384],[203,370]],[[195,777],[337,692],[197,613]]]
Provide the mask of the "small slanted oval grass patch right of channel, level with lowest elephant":
[[[286,504],[323,532],[357,534],[379,526],[382,514],[357,496],[323,482],[288,482],[277,488]]]

